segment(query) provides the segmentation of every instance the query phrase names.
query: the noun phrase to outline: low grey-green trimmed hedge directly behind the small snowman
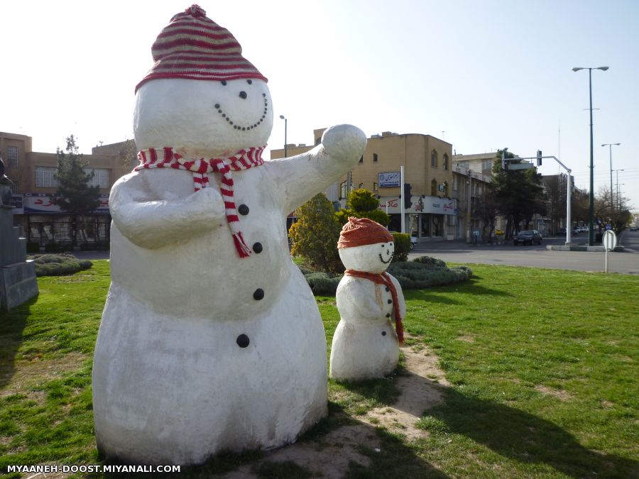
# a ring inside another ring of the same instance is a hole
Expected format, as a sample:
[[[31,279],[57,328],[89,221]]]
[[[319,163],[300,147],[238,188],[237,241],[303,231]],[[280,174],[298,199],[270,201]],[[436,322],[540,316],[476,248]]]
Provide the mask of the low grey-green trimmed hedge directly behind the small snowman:
[[[410,242],[410,240],[409,240]],[[343,275],[312,271],[299,266],[313,294],[333,295]],[[452,285],[468,280],[473,270],[467,266],[447,268],[446,263],[431,256],[420,256],[413,261],[391,263],[388,272],[393,275],[403,290],[421,290],[423,288]]]

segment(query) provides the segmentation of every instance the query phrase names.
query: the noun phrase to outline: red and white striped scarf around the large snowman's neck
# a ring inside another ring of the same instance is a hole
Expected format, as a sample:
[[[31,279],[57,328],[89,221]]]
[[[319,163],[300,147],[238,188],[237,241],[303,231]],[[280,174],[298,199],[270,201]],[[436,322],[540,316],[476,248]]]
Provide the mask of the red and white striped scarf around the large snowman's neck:
[[[205,160],[185,160],[181,155],[175,153],[173,148],[149,148],[138,153],[140,164],[133,170],[146,170],[148,168],[175,168],[176,170],[188,170],[193,172],[193,189],[195,192],[209,186],[208,173],[220,173],[222,175],[222,185],[219,189],[224,199],[226,209],[226,223],[229,224],[233,241],[240,258],[246,258],[251,254],[251,248],[246,246],[242,232],[239,229],[239,216],[235,208],[233,198],[233,177],[231,171],[248,170],[253,166],[264,164],[262,152],[266,145],[258,148],[240,150],[229,158],[210,158]]]

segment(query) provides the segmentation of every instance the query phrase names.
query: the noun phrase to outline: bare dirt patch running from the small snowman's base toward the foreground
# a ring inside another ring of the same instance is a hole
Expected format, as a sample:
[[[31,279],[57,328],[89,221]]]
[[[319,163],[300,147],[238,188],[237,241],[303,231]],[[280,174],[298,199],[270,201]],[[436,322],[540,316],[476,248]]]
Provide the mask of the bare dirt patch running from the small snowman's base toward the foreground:
[[[415,423],[426,409],[443,401],[444,387],[449,382],[439,368],[439,358],[423,344],[403,346],[405,373],[395,377],[400,397],[393,406],[372,409],[365,417],[357,417],[360,424],[342,426],[313,441],[292,444],[268,453],[258,463],[247,464],[227,473],[225,479],[253,479],[264,463],[293,462],[307,470],[312,477],[341,479],[346,477],[349,464],[371,466],[371,459],[362,448],[380,451],[381,440],[375,429],[382,427],[403,434],[408,441],[427,436]]]

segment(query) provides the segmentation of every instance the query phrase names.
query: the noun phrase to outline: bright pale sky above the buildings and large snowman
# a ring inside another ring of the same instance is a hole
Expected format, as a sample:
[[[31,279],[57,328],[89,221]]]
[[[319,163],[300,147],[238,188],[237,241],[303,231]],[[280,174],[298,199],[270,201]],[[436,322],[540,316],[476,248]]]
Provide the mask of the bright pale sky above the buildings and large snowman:
[[[55,151],[132,138],[133,88],[175,0],[0,4],[0,130]],[[427,133],[457,153],[508,147],[555,155],[589,185],[587,71],[593,72],[595,189],[610,183],[639,209],[639,1],[202,0],[269,79],[281,148],[312,130],[353,123]],[[6,48],[12,45],[13,48]],[[442,133],[443,132],[443,133]],[[545,162],[544,174],[557,165]],[[616,173],[613,176],[616,184]],[[613,185],[616,188],[616,185]]]

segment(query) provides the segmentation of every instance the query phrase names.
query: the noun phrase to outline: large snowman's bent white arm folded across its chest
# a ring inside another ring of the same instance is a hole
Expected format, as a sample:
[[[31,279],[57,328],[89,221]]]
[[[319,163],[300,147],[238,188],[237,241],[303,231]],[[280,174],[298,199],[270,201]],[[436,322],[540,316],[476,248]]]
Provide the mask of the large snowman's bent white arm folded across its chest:
[[[180,199],[150,199],[141,176],[121,177],[109,196],[111,218],[119,231],[142,248],[162,248],[226,224],[224,201],[215,188]]]

